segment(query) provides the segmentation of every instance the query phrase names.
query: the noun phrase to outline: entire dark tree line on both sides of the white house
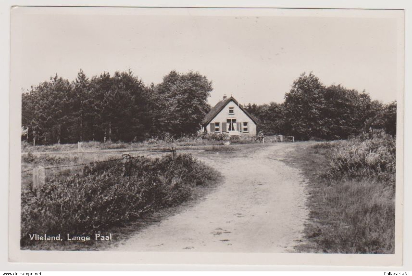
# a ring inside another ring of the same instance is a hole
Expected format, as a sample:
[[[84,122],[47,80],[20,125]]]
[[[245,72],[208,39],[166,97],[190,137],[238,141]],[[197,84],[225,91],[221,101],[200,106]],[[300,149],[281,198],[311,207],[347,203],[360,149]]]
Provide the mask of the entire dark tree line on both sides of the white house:
[[[196,134],[210,110],[212,82],[200,73],[171,71],[145,85],[131,71],[92,78],[80,70],[58,75],[22,94],[22,139],[32,144],[142,141],[168,133]],[[248,104],[264,134],[295,139],[346,139],[370,129],[396,135],[396,101],[382,104],[365,91],[326,87],[313,73],[297,78],[281,104]]]

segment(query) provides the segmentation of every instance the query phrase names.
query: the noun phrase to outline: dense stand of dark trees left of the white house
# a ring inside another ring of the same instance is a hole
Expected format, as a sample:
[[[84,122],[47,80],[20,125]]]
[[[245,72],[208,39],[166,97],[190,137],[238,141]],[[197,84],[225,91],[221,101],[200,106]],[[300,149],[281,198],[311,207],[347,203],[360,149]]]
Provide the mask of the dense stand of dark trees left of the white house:
[[[211,82],[171,71],[145,86],[131,71],[73,82],[57,75],[22,94],[23,139],[32,144],[141,141],[195,133],[210,106]]]

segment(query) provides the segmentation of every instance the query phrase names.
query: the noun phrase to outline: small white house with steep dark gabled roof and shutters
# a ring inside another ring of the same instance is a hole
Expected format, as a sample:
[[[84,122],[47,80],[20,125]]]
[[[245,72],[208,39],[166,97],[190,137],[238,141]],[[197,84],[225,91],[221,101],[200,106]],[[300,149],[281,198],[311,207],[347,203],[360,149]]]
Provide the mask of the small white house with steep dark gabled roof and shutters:
[[[202,121],[202,130],[207,133],[255,136],[256,120],[233,97],[223,96]]]

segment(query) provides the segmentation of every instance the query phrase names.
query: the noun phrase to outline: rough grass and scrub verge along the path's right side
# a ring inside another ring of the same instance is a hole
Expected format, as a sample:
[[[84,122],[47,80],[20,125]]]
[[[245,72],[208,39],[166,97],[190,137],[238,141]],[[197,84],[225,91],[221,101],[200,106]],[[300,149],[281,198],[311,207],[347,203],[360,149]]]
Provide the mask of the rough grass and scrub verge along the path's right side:
[[[395,156],[389,139],[375,133],[291,152],[288,161],[297,162],[309,180],[310,215],[298,252],[394,253]],[[376,154],[379,165],[370,160]]]

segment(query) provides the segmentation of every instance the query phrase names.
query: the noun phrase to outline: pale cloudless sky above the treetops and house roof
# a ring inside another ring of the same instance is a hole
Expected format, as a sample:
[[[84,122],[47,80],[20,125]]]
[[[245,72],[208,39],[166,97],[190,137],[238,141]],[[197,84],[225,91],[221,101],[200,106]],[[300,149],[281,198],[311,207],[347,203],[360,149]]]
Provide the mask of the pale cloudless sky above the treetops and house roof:
[[[283,102],[312,71],[372,99],[396,100],[403,80],[400,11],[290,9],[12,10],[12,92],[56,73],[74,80],[131,69],[147,85],[198,71],[241,104]],[[401,57],[401,58],[400,58]]]

